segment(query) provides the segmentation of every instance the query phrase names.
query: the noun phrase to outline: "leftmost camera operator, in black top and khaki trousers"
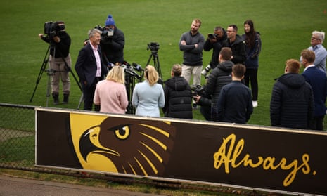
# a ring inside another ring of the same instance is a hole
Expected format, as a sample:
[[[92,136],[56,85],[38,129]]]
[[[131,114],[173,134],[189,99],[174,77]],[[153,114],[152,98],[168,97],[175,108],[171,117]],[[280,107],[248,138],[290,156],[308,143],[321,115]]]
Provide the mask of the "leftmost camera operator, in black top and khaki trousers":
[[[52,29],[53,27],[53,29]],[[51,93],[53,103],[59,103],[59,80],[63,82],[63,103],[68,103],[70,93],[69,71],[72,65],[70,58],[71,39],[65,30],[63,21],[51,22],[49,34],[39,34],[39,37],[50,44],[49,65],[51,71]]]

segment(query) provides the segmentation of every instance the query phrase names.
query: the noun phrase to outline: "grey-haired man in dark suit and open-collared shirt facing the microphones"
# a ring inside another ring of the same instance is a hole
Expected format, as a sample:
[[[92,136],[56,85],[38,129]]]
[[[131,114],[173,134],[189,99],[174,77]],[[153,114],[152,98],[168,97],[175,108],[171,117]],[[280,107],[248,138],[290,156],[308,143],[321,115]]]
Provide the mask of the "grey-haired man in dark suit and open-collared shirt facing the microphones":
[[[78,54],[75,70],[82,84],[84,110],[92,110],[94,92],[98,81],[104,79],[108,73],[101,60],[100,40],[101,31],[93,29],[89,31],[89,43]],[[99,106],[94,106],[95,111],[100,111]]]

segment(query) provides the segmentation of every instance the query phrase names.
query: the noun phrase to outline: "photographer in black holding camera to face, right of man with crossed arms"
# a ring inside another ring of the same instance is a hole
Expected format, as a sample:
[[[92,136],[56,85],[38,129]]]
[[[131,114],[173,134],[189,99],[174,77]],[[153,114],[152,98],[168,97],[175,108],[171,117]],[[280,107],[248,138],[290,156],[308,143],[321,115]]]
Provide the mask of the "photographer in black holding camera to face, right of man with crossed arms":
[[[218,65],[218,56],[219,52],[222,49],[223,42],[227,39],[226,31],[223,27],[214,27],[214,33],[207,35],[207,40],[205,40],[205,44],[203,46],[204,51],[210,51],[212,49],[212,58],[205,67],[205,69],[201,72],[204,76],[207,75],[210,70],[214,69],[214,67],[217,67]]]

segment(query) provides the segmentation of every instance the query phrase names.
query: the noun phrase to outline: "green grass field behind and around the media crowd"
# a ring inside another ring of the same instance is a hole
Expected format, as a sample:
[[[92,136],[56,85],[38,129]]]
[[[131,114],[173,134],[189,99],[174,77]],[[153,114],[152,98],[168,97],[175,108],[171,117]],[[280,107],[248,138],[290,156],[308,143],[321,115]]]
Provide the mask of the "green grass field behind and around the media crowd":
[[[298,59],[300,51],[309,46],[313,30],[327,31],[326,9],[325,0],[4,1],[0,8],[3,29],[0,32],[0,103],[46,106],[46,72],[37,85],[32,103],[30,98],[48,48],[37,36],[43,32],[47,21],[65,21],[72,38],[70,54],[74,66],[87,31],[104,25],[110,13],[125,34],[125,60],[145,66],[150,55],[147,44],[158,42],[163,79],[168,79],[170,67],[182,62],[179,37],[190,29],[193,18],[203,21],[200,27],[203,34],[211,33],[217,25],[226,28],[230,24],[238,25],[238,34],[243,34],[243,22],[252,19],[256,30],[262,34],[262,53],[258,72],[259,106],[248,123],[269,125],[274,79],[283,74],[288,58]],[[203,52],[204,65],[209,63],[210,56],[211,51]],[[70,79],[70,103],[56,107],[77,108],[81,91],[75,79],[72,76]],[[54,107],[51,97],[49,106]],[[195,119],[203,119],[198,110],[194,113]]]

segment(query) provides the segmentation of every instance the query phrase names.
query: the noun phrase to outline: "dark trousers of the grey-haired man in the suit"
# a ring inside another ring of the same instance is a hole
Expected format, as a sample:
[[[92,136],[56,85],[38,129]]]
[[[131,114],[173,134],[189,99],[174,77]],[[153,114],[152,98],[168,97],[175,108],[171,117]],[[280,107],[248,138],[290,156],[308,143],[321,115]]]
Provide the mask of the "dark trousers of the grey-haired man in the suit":
[[[91,84],[91,86],[85,86],[83,85],[83,99],[84,99],[84,110],[92,110],[93,107],[93,99],[94,99],[94,93],[96,91],[96,84],[98,84],[98,81],[101,81],[101,78],[96,77]],[[99,105],[94,105],[94,111],[100,111]]]

